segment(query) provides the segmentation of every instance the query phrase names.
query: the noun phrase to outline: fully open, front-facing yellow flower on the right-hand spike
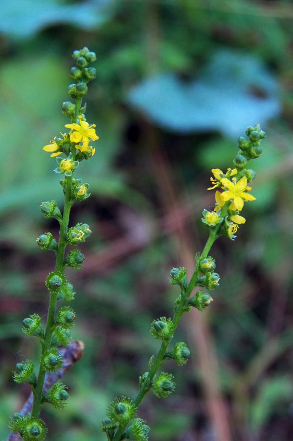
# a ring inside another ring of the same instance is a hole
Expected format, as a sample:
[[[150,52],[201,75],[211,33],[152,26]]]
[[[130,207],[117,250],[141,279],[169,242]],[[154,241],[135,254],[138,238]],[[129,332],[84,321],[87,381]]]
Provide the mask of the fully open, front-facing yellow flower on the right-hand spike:
[[[251,187],[247,186],[247,177],[243,176],[236,182],[236,178],[232,178],[231,182],[229,179],[224,178],[221,179],[221,184],[224,188],[227,188],[225,192],[221,193],[221,199],[226,202],[229,199],[232,199],[233,202],[230,205],[230,209],[236,209],[241,211],[244,205],[243,199],[245,200],[255,200],[255,197],[245,193],[245,190],[251,190]]]

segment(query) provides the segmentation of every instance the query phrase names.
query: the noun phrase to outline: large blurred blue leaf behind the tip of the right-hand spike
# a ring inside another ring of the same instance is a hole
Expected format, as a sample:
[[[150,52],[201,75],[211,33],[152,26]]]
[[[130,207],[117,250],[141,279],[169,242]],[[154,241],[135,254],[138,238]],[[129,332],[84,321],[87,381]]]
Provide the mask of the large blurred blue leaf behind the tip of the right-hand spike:
[[[183,82],[173,73],[161,73],[135,86],[128,99],[167,129],[219,130],[235,137],[248,125],[265,124],[279,114],[277,91],[260,60],[221,50],[197,80]]]

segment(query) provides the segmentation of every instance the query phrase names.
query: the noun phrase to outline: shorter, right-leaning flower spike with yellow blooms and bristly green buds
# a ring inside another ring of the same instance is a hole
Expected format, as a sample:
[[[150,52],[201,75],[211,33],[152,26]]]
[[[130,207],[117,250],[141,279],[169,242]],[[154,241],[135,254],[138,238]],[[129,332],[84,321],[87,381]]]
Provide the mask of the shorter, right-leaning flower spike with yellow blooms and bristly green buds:
[[[219,285],[220,276],[215,272],[215,260],[208,255],[213,243],[220,237],[226,236],[235,240],[235,233],[239,225],[245,223],[245,218],[240,216],[244,202],[254,200],[250,193],[251,188],[247,185],[254,179],[255,172],[247,169],[250,159],[257,158],[262,152],[261,140],[266,133],[259,124],[248,127],[246,134],[239,138],[239,152],[236,155],[233,169],[227,169],[224,173],[220,169],[213,169],[211,177],[212,187],[208,190],[218,189],[215,194],[215,209],[203,210],[202,221],[209,228],[209,237],[201,254],[195,258],[195,270],[187,283],[186,269],[173,268],[170,272],[169,282],[179,285],[180,295],[175,300],[173,319],[161,317],[151,324],[151,334],[155,339],[161,340],[158,355],[151,357],[148,371],[139,377],[139,392],[134,400],[121,396],[115,398],[107,409],[106,418],[102,421],[102,430],[106,432],[109,441],[146,441],[149,427],[140,418],[135,417],[136,411],[143,397],[150,389],[153,389],[158,398],[168,397],[175,389],[174,377],[158,369],[166,360],[175,360],[182,366],[190,355],[185,343],[176,343],[173,349],[167,351],[176,327],[184,312],[191,311],[192,307],[199,311],[204,309],[213,300],[211,295],[199,290],[190,297],[195,287],[203,287],[212,291]]]

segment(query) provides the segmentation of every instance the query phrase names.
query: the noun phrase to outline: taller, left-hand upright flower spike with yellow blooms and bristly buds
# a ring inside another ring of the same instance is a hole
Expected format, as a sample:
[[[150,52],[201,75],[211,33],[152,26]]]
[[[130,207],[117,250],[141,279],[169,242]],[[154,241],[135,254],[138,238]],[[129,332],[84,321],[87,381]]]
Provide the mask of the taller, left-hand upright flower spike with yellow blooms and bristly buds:
[[[96,55],[88,48],[83,48],[75,50],[73,58],[76,61],[76,66],[71,68],[70,76],[74,82],[69,84],[68,94],[75,100],[75,104],[71,101],[62,104],[63,113],[71,120],[70,124],[65,125],[69,130],[62,133],[62,138],[55,137],[49,145],[44,147],[45,151],[51,152],[51,156],[58,156],[54,172],[64,174],[60,184],[65,196],[63,215],[54,200],[41,204],[41,211],[45,218],[55,218],[60,224],[58,244],[51,233],[42,234],[37,239],[42,250],[49,249],[56,254],[55,270],[50,272],[45,279],[45,285],[50,292],[45,329],[37,314],[23,320],[24,334],[33,335],[40,339],[42,346],[40,368],[38,375],[36,375],[34,364],[26,360],[23,363],[18,363],[14,372],[14,380],[17,383],[29,384],[33,392],[31,413],[14,414],[9,423],[10,429],[19,432],[26,441],[42,441],[45,438],[47,431],[45,423],[39,419],[44,403],[50,403],[55,408],[63,408],[68,399],[67,388],[64,384],[54,384],[45,394],[43,386],[46,372],[56,372],[62,368],[63,356],[58,346],[68,346],[70,328],[74,326],[74,311],[68,306],[62,306],[56,313],[56,307],[58,300],[69,302],[73,299],[73,287],[63,271],[67,266],[79,270],[82,267],[84,255],[79,249],[73,248],[65,257],[65,249],[67,245],[75,247],[84,242],[91,233],[90,227],[86,223],[78,223],[68,228],[68,221],[73,202],[84,200],[90,196],[89,185],[82,183],[81,179],[74,179],[73,172],[82,160],[90,159],[93,156],[95,149],[90,146],[90,140],[98,139],[94,129],[95,125],[89,125],[86,121],[84,115],[86,106],[82,107],[82,98],[88,91],[87,83],[95,78],[95,69],[89,67],[89,63],[96,60]]]

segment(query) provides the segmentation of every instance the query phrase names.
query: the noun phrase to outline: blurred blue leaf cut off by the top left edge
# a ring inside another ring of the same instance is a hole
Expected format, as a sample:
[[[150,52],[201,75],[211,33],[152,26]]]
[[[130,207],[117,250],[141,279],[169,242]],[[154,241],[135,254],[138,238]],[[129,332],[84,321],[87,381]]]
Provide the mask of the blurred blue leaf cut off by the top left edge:
[[[79,4],[60,4],[54,0],[9,0],[1,2],[0,32],[14,37],[29,37],[49,25],[71,24],[96,28],[109,16],[106,9],[112,0]]]

